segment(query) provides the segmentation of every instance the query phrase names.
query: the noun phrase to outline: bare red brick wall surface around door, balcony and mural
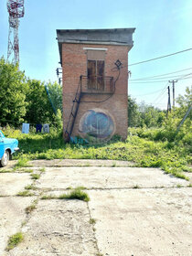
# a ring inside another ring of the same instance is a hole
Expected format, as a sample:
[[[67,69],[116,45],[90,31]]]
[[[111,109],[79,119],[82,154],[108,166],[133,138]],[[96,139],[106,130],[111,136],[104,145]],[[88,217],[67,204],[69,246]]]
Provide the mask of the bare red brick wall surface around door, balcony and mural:
[[[69,120],[69,114],[75,93],[77,91],[80,75],[87,75],[87,55],[83,48],[107,48],[105,56],[105,76],[117,78],[118,71],[112,71],[114,62],[120,59],[124,69],[121,69],[119,80],[116,82],[116,91],[108,101],[102,103],[87,103],[83,101],[103,101],[109,95],[84,95],[81,98],[80,108],[73,128],[72,136],[79,135],[81,116],[88,110],[100,108],[109,112],[115,122],[115,134],[127,137],[127,62],[128,47],[111,45],[62,45],[62,71],[63,71],[63,121],[64,131]]]

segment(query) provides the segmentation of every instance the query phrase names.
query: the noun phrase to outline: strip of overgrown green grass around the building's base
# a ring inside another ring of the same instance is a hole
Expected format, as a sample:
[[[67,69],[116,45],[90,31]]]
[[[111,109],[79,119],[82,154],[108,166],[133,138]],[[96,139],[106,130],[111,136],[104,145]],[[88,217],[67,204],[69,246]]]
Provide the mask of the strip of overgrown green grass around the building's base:
[[[20,152],[14,157],[27,159],[112,159],[133,161],[141,167],[160,167],[166,173],[186,178],[191,172],[191,134],[185,126],[173,137],[173,131],[130,129],[125,142],[117,140],[102,145],[64,144],[56,130],[47,134],[22,134],[11,130],[5,134],[19,141]],[[175,131],[176,132],[176,131]]]

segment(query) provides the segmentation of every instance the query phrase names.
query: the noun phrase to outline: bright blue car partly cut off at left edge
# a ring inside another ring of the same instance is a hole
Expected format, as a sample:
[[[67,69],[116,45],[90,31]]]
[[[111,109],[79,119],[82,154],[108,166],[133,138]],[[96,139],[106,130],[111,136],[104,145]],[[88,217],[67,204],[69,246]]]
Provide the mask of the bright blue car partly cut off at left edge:
[[[0,166],[4,167],[8,164],[11,155],[19,150],[18,141],[16,139],[5,138],[4,133],[0,131]]]

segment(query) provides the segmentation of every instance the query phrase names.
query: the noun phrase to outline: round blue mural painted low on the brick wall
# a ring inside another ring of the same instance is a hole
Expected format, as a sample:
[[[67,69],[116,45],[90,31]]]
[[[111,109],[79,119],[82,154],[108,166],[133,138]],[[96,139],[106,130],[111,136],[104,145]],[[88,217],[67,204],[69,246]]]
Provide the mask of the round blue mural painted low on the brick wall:
[[[114,130],[112,117],[100,109],[89,110],[80,119],[80,136],[89,143],[108,141]]]

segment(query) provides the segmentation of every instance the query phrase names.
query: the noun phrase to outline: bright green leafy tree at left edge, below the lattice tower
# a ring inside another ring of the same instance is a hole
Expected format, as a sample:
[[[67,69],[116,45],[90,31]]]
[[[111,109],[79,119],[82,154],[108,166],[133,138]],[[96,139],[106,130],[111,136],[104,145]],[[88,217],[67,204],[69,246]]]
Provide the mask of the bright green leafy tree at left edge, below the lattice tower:
[[[19,124],[26,114],[26,78],[18,67],[0,59],[0,123]]]

